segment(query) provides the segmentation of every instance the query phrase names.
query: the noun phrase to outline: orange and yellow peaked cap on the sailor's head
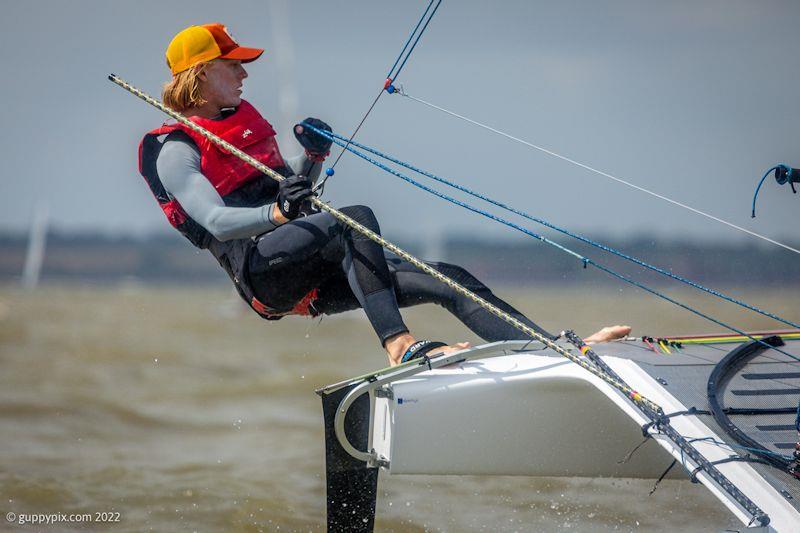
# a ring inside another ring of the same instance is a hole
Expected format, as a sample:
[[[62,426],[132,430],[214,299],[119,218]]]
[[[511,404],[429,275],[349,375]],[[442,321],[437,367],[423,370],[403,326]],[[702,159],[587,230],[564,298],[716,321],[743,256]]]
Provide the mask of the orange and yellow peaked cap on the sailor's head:
[[[219,23],[189,26],[167,46],[167,65],[172,75],[212,59],[238,59],[249,63],[264,53],[261,48],[239,46]]]

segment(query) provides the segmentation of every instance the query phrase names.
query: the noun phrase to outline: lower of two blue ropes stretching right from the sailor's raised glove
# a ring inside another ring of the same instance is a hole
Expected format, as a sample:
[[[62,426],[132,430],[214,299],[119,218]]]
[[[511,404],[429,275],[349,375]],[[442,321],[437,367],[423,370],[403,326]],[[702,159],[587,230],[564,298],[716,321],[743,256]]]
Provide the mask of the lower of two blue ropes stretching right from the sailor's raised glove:
[[[342,142],[341,140],[339,140],[337,138],[338,137],[337,135],[331,134],[328,131],[324,131],[324,130],[320,130],[320,129],[314,128],[311,125],[308,125],[308,127],[313,129],[314,131],[316,131],[320,135],[323,135],[323,136],[329,138],[331,141],[333,141],[337,145],[342,146],[342,147],[345,146],[345,143]],[[692,307],[689,307],[688,305],[683,304],[683,303],[681,303],[681,302],[679,302],[679,301],[677,301],[677,300],[675,300],[673,298],[670,298],[666,294],[663,294],[663,293],[661,293],[661,292],[659,292],[659,291],[657,291],[655,289],[651,289],[651,288],[639,283],[638,281],[635,281],[635,280],[633,280],[633,279],[631,279],[631,278],[629,278],[629,277],[627,277],[627,276],[625,276],[623,274],[615,272],[615,271],[611,270],[610,268],[605,267],[605,266],[601,265],[600,263],[597,263],[597,262],[593,261],[592,259],[589,259],[588,257],[582,256],[581,254],[579,254],[579,253],[577,253],[577,252],[575,252],[573,250],[570,250],[569,248],[566,248],[566,247],[564,247],[564,246],[562,246],[562,245],[560,245],[560,244],[558,244],[556,242],[551,241],[550,239],[548,239],[546,237],[543,237],[542,235],[539,235],[538,233],[534,233],[534,232],[532,232],[531,230],[529,230],[527,228],[523,228],[522,226],[514,224],[513,222],[505,220],[505,219],[503,219],[501,217],[493,215],[493,214],[491,214],[491,213],[489,213],[487,211],[484,211],[482,209],[479,209],[477,207],[469,205],[469,204],[467,204],[465,202],[462,202],[460,200],[457,200],[457,199],[455,199],[455,198],[453,198],[451,196],[448,196],[448,195],[446,195],[446,194],[444,194],[442,192],[439,192],[439,191],[437,191],[435,189],[431,189],[430,187],[428,187],[426,185],[423,185],[422,183],[414,180],[413,178],[410,178],[410,177],[406,176],[405,174],[402,174],[402,173],[398,172],[397,170],[384,165],[380,161],[372,159],[368,155],[366,155],[366,154],[364,154],[362,152],[359,152],[358,150],[353,148],[353,146],[350,146],[350,147],[348,147],[346,149],[349,152],[357,155],[361,159],[363,159],[363,160],[365,160],[365,161],[367,161],[369,163],[372,163],[376,167],[388,172],[389,174],[392,174],[393,176],[396,176],[396,177],[402,179],[403,181],[405,181],[407,183],[410,183],[410,184],[414,185],[415,187],[418,187],[418,188],[420,188],[420,189],[422,189],[422,190],[424,190],[426,192],[429,192],[429,193],[431,193],[431,194],[433,194],[435,196],[438,196],[439,198],[442,198],[443,200],[446,200],[446,201],[448,201],[448,202],[450,202],[452,204],[455,204],[455,205],[457,205],[459,207],[463,207],[465,209],[468,209],[468,210],[470,210],[470,211],[472,211],[474,213],[478,213],[479,215],[482,215],[482,216],[484,216],[486,218],[489,218],[491,220],[494,220],[496,222],[504,224],[504,225],[506,225],[506,226],[508,226],[508,227],[510,227],[512,229],[515,229],[515,230],[520,231],[520,232],[522,232],[522,233],[524,233],[526,235],[534,237],[535,239],[538,239],[538,240],[540,240],[542,242],[545,242],[547,244],[555,246],[559,250],[562,250],[562,251],[572,255],[573,257],[576,257],[576,258],[580,259],[581,262],[583,262],[584,268],[586,268],[587,265],[592,265],[592,266],[596,267],[597,269],[602,270],[603,272],[606,272],[607,274],[610,274],[610,275],[616,277],[617,279],[619,279],[621,281],[624,281],[625,283],[629,283],[631,285],[634,285],[634,286],[636,286],[636,287],[638,287],[638,288],[640,288],[640,289],[642,289],[644,291],[649,292],[650,294],[658,296],[659,298],[662,298],[662,299],[664,299],[664,300],[666,300],[666,301],[668,301],[670,303],[673,303],[673,304],[675,304],[675,305],[677,305],[679,307],[682,307],[683,309],[686,309],[687,311],[689,311],[691,313],[694,313],[697,316],[705,318],[706,320],[708,320],[710,322],[713,322],[713,323],[715,323],[715,324],[717,324],[717,325],[719,325],[719,326],[721,326],[721,327],[723,327],[725,329],[729,329],[729,330],[735,332],[736,334],[741,335],[742,337],[747,337],[748,339],[750,339],[750,340],[752,340],[752,341],[754,341],[754,342],[756,342],[758,344],[761,344],[761,345],[763,345],[763,346],[765,346],[767,348],[770,348],[770,349],[773,349],[773,350],[775,350],[777,352],[780,352],[780,353],[786,355],[787,357],[790,357],[790,358],[792,358],[792,359],[794,359],[796,361],[800,361],[800,358],[795,356],[795,355],[787,353],[787,352],[785,352],[785,351],[783,351],[783,350],[781,350],[779,348],[776,348],[776,347],[771,346],[771,345],[769,345],[769,344],[767,344],[767,343],[765,343],[765,342],[763,342],[763,341],[761,341],[759,339],[756,339],[755,337],[753,337],[751,335],[748,335],[747,333],[745,333],[742,330],[739,330],[739,329],[737,329],[737,328],[735,328],[733,326],[730,326],[730,325],[728,325],[728,324],[726,324],[726,323],[724,323],[724,322],[722,322],[720,320],[717,320],[716,318],[713,318],[713,317],[703,313],[702,311],[698,311],[698,310],[696,310],[696,309],[694,309]]]

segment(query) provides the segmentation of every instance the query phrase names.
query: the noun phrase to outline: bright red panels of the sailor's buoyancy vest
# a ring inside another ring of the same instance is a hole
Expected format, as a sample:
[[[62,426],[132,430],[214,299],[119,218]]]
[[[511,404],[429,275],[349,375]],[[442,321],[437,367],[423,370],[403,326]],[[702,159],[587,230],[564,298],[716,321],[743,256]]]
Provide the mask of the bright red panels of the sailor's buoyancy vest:
[[[242,100],[236,111],[222,120],[201,117],[191,117],[189,120],[198,126],[202,126],[222,140],[231,143],[239,150],[270,168],[285,166],[283,157],[278,149],[278,143],[275,140],[275,130],[272,125],[245,100]],[[219,148],[216,144],[184,124],[165,124],[148,132],[139,144],[139,173],[147,180],[169,223],[182,230],[182,226],[188,219],[186,212],[177,200],[167,198],[165,195],[156,192],[156,188],[163,189],[163,185],[151,183],[154,181],[153,176],[148,174],[153,174],[153,172],[146,170],[144,161],[147,154],[143,153],[143,146],[148,138],[166,135],[175,130],[185,132],[197,145],[200,150],[200,170],[220,196],[225,196],[241,188],[260,175],[260,172],[238,157],[223,151],[222,148]],[[154,167],[155,162],[151,163],[150,166]]]

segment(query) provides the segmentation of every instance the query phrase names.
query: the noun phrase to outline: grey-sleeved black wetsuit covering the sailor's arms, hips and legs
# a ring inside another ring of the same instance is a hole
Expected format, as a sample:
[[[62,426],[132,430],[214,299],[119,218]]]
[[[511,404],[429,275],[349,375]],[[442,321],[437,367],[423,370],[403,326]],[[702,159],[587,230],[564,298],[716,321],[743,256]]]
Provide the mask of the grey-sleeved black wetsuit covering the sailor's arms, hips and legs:
[[[266,183],[258,202],[237,202],[236,195],[221,198],[200,172],[200,152],[186,139],[170,136],[158,152],[157,173],[166,191],[187,215],[212,238],[208,246],[237,288],[273,310],[289,311],[317,288],[312,314],[334,314],[363,308],[383,343],[408,331],[398,307],[422,303],[441,305],[486,341],[525,339],[522,332],[484,310],[469,298],[398,259],[387,260],[383,248],[355,233],[332,215],[315,213],[278,225],[272,220],[277,187]],[[302,158],[301,158],[302,159]],[[319,165],[287,161],[289,174]],[[284,172],[285,173],[285,172]],[[269,180],[266,176],[260,178]],[[267,186],[269,185],[269,186]],[[266,194],[269,192],[269,194]],[[380,233],[372,210],[365,206],[341,211]],[[253,238],[251,238],[251,236]],[[513,307],[497,298],[461,267],[430,263],[443,274],[510,313],[531,328],[552,337]]]

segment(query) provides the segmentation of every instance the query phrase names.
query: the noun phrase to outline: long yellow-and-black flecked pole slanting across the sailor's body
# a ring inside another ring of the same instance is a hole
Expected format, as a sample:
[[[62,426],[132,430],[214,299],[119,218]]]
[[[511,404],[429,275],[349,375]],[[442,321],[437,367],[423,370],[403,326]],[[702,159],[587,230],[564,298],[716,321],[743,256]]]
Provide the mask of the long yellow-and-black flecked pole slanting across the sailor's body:
[[[120,78],[119,76],[116,76],[115,74],[110,74],[108,76],[108,79],[111,80],[112,82],[116,83],[117,85],[119,85],[120,87],[125,89],[126,91],[130,92],[134,96],[137,96],[138,98],[144,100],[145,102],[147,102],[148,104],[152,105],[153,107],[163,111],[164,113],[166,113],[167,115],[171,116],[172,118],[174,118],[175,120],[177,120],[181,124],[183,124],[186,127],[190,128],[192,131],[198,133],[199,135],[202,135],[204,138],[206,138],[210,142],[216,144],[217,146],[219,146],[223,150],[225,150],[225,151],[229,152],[230,154],[238,157],[239,159],[241,159],[245,163],[247,163],[250,166],[252,166],[253,168],[257,169],[259,172],[263,172],[264,174],[266,174],[267,176],[269,176],[270,178],[272,178],[272,179],[274,179],[274,180],[276,180],[278,182],[280,182],[280,181],[282,181],[284,179],[283,176],[281,176],[280,174],[278,174],[277,172],[275,172],[274,170],[269,168],[267,165],[261,163],[260,161],[258,161],[257,159],[253,158],[252,156],[250,156],[250,155],[244,153],[243,151],[239,150],[238,148],[236,148],[235,146],[233,146],[229,142],[227,142],[227,141],[225,141],[223,139],[220,139],[219,137],[217,137],[213,133],[209,132],[208,130],[206,130],[202,126],[199,126],[199,125],[195,124],[194,122],[192,122],[188,118],[184,117],[183,115],[181,115],[177,111],[174,111],[174,110],[170,109],[169,107],[165,106],[164,104],[162,104],[161,102],[159,102],[158,100],[153,98],[152,96],[150,96],[150,95],[144,93],[143,91],[137,89],[133,85],[129,84],[128,82],[126,82],[125,80]],[[493,314],[497,318],[499,318],[499,319],[503,320],[504,322],[514,326],[519,331],[521,331],[524,334],[528,335],[532,339],[535,339],[535,340],[543,343],[545,346],[547,346],[548,348],[550,348],[554,352],[558,353],[559,355],[562,355],[562,356],[566,357],[567,359],[569,359],[573,363],[579,365],[581,368],[587,370],[588,372],[591,372],[593,375],[597,376],[598,378],[600,378],[604,382],[608,383],[609,385],[611,385],[612,387],[614,387],[615,389],[617,389],[618,391],[623,393],[625,396],[628,396],[629,398],[632,398],[632,399],[636,398],[636,401],[641,402],[641,404],[647,406],[648,409],[652,409],[653,411],[658,412],[658,413],[663,413],[663,410],[661,409],[661,407],[659,407],[654,402],[648,400],[644,396],[640,395],[638,392],[636,392],[633,389],[631,389],[626,383],[620,382],[619,380],[615,379],[614,377],[609,376],[607,373],[603,372],[602,370],[600,370],[599,368],[597,368],[595,365],[591,364],[590,362],[586,361],[582,357],[572,353],[571,351],[567,350],[566,348],[564,348],[562,346],[559,346],[558,344],[553,342],[548,337],[545,337],[544,335],[540,334],[539,332],[537,332],[533,328],[529,327],[528,325],[526,325],[525,323],[521,322],[520,320],[514,318],[513,316],[511,316],[510,314],[506,313],[505,311],[503,311],[499,307],[495,306],[494,304],[492,304],[490,302],[487,302],[486,300],[484,300],[483,298],[481,298],[480,296],[478,296],[474,292],[472,292],[469,289],[465,288],[464,286],[460,285],[459,283],[457,283],[456,281],[452,280],[451,278],[445,276],[444,274],[442,274],[438,270],[430,267],[429,265],[427,265],[426,263],[424,263],[421,260],[417,259],[416,257],[414,257],[410,253],[406,252],[405,250],[403,250],[399,246],[387,241],[386,239],[384,239],[383,237],[381,237],[380,235],[378,235],[374,231],[370,230],[369,228],[363,226],[362,224],[359,224],[358,222],[356,222],[352,218],[348,217],[347,215],[345,215],[341,211],[331,207],[330,205],[326,204],[325,202],[323,202],[322,200],[320,200],[317,197],[313,197],[312,196],[311,197],[311,202],[317,208],[319,208],[320,210],[325,211],[329,215],[333,216],[336,220],[340,221],[342,224],[347,225],[348,227],[354,229],[358,233],[360,233],[360,234],[364,235],[365,237],[367,237],[369,240],[381,245],[382,247],[384,247],[385,249],[389,250],[393,254],[397,255],[401,259],[404,259],[404,260],[408,261],[409,263],[411,263],[412,265],[414,265],[415,267],[420,269],[422,272],[424,272],[424,273],[428,274],[429,276],[431,276],[432,278],[444,283],[445,285],[447,285],[448,287],[450,287],[451,289],[453,289],[457,293],[459,293],[459,294],[465,296],[466,298],[472,300],[473,302],[475,302],[476,304],[478,304],[482,308],[486,309],[489,313]]]

